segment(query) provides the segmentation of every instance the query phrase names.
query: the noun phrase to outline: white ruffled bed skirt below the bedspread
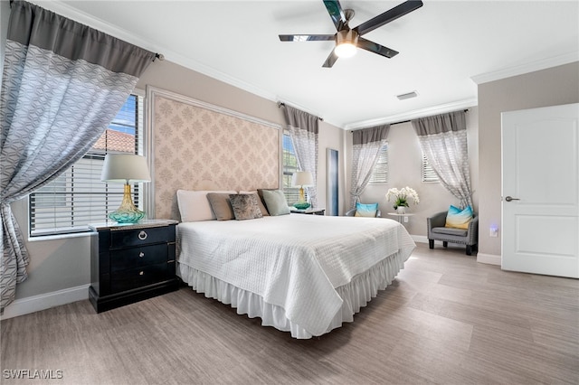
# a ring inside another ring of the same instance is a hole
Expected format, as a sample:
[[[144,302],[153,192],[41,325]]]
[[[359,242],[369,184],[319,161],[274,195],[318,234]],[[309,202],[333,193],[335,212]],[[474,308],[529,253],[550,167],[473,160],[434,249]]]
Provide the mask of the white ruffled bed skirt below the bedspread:
[[[340,327],[345,322],[353,322],[354,315],[360,312],[360,308],[367,305],[377,295],[378,290],[384,290],[392,283],[394,277],[403,269],[407,258],[407,253],[398,251],[352,278],[348,284],[337,287],[337,294],[342,298],[343,304],[340,311],[327,325],[324,333]],[[273,326],[282,332],[289,332],[293,338],[308,339],[313,336],[299,324],[291,322],[286,317],[283,307],[268,304],[257,294],[228,284],[185,264],[179,264],[177,272],[179,277],[197,293],[204,293],[207,298],[214,298],[223,304],[231,305],[237,309],[238,315],[248,315],[250,318],[260,317],[261,325]]]

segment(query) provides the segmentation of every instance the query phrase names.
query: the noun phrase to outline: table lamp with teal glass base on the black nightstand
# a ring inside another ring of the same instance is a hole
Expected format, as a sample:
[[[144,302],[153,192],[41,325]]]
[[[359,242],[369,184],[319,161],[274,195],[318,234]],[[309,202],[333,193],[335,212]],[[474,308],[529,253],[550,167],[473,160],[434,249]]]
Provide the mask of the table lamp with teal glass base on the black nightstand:
[[[109,213],[109,218],[119,223],[137,223],[145,217],[133,203],[130,183],[150,182],[147,159],[133,154],[107,154],[100,179],[108,183],[125,183],[123,202],[119,209]]]

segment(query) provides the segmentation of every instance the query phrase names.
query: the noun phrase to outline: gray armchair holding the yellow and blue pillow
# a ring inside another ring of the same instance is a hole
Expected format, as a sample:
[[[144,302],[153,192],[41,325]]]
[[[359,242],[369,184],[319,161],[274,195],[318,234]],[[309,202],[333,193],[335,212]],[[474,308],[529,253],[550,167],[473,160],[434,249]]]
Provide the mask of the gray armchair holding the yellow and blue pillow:
[[[445,248],[448,247],[449,242],[466,245],[467,255],[472,255],[472,250],[477,249],[479,243],[479,216],[473,213],[469,228],[464,230],[444,227],[446,213],[447,211],[441,211],[426,219],[429,248],[434,249],[434,240],[441,240]]]

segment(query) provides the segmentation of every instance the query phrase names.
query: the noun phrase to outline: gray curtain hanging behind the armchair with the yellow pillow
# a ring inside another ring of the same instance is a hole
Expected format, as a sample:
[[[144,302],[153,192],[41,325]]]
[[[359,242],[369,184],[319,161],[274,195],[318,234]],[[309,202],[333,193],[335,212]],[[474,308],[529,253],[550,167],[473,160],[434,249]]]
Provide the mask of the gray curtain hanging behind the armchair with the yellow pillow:
[[[472,207],[466,113],[422,117],[412,124],[422,152],[442,185],[460,200],[461,208]]]

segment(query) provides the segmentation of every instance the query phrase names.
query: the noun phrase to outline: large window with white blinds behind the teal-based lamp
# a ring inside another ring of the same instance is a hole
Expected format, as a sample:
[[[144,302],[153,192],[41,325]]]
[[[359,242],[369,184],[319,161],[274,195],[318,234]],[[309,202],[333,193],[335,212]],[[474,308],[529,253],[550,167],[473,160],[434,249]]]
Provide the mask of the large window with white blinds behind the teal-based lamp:
[[[143,98],[130,95],[97,143],[70,169],[29,195],[30,236],[88,231],[88,224],[107,220],[119,208],[123,185],[100,181],[108,153],[143,154]],[[139,183],[133,200],[142,202]]]

